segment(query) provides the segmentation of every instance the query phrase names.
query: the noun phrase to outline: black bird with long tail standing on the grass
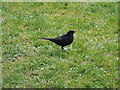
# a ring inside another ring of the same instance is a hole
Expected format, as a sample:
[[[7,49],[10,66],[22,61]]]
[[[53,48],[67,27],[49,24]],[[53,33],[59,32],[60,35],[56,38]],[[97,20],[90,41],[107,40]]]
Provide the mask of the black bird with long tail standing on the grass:
[[[59,36],[56,38],[41,38],[41,39],[50,40],[50,41],[56,43],[57,45],[62,46],[62,49],[64,49],[63,48],[64,46],[70,45],[73,42],[74,32],[76,32],[76,31],[71,30],[71,31],[68,31],[67,34],[65,34],[63,36]]]

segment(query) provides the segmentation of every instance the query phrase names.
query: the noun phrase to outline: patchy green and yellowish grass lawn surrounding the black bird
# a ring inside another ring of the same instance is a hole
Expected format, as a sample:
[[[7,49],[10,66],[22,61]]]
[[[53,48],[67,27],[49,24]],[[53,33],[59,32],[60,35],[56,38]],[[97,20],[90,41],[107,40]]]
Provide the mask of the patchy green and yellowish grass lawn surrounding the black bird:
[[[2,3],[4,88],[117,88],[117,3]],[[61,47],[39,38],[76,30]]]

